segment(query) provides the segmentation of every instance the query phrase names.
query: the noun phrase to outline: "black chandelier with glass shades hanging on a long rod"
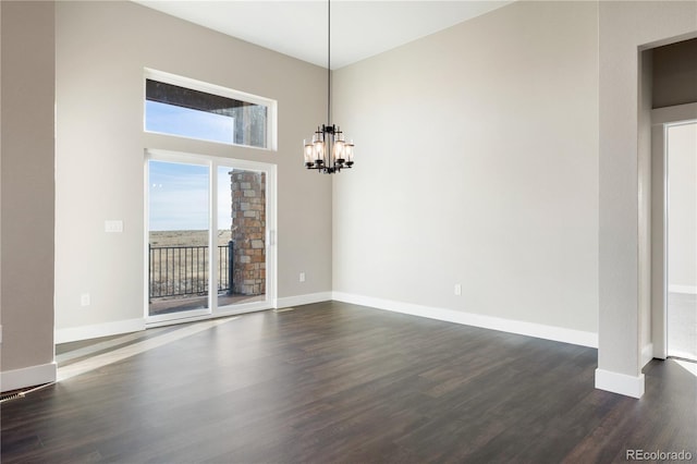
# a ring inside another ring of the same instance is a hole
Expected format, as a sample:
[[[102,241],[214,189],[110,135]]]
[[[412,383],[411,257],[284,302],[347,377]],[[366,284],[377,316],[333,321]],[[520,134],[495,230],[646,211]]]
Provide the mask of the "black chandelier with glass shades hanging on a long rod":
[[[327,0],[327,121],[317,127],[311,139],[303,141],[305,167],[333,174],[353,167],[353,142],[331,123],[331,0]]]

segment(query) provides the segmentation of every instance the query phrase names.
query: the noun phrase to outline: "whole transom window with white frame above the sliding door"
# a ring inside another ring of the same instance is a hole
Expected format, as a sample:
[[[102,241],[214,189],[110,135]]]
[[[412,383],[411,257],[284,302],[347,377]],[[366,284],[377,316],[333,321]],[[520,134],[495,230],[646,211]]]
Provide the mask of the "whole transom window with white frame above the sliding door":
[[[145,78],[145,130],[274,149],[276,101],[148,70]]]

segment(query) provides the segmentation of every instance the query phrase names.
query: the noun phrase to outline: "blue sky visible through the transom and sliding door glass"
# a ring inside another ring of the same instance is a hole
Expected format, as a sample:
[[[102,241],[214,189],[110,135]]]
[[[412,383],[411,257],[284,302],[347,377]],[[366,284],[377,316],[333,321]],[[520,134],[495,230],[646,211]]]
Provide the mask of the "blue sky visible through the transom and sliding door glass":
[[[146,101],[146,130],[232,143],[229,117]],[[218,168],[218,229],[230,229],[230,167]],[[207,166],[149,161],[149,230],[207,230],[210,185]]]

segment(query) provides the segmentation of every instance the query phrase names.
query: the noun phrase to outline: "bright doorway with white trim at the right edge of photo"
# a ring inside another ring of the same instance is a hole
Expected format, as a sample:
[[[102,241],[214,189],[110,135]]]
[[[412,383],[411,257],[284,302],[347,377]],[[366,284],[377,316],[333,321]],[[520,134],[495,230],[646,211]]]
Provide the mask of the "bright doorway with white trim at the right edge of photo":
[[[697,103],[651,119],[653,357],[697,362]]]

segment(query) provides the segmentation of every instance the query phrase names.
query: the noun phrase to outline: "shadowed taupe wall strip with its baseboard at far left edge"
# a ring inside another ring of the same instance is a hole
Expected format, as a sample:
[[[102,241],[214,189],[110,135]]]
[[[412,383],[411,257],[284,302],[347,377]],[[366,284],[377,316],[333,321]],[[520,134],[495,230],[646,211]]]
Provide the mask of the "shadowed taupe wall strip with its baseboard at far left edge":
[[[53,2],[0,2],[2,391],[56,379]]]

